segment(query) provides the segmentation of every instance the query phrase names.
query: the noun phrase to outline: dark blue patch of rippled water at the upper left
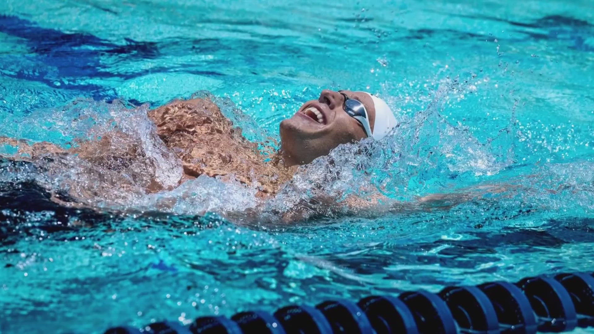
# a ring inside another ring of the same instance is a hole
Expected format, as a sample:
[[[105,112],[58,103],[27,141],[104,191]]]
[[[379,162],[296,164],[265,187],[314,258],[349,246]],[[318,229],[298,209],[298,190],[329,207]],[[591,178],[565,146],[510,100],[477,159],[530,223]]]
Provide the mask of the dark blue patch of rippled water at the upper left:
[[[49,88],[49,92],[59,95],[57,99],[43,99],[39,103],[31,104],[26,111],[58,106],[80,96],[109,102],[118,97],[112,88],[108,85],[84,81],[88,79],[127,80],[148,73],[169,70],[163,67],[151,71],[118,73],[110,70],[101,61],[102,58],[116,58],[117,61],[122,62],[158,58],[159,48],[154,42],[125,39],[125,44],[118,45],[87,33],[64,33],[55,29],[42,28],[31,21],[8,15],[0,15],[0,31],[23,40],[28,51],[25,55],[3,55],[0,60],[2,75],[43,83]],[[198,71],[196,74],[222,75],[209,71]],[[5,89],[10,88],[5,87]],[[7,94],[9,92],[10,90],[3,94],[5,99],[10,99]],[[141,105],[150,101],[128,99],[128,102]],[[2,105],[0,108],[5,108],[4,112],[14,111],[11,105]]]

